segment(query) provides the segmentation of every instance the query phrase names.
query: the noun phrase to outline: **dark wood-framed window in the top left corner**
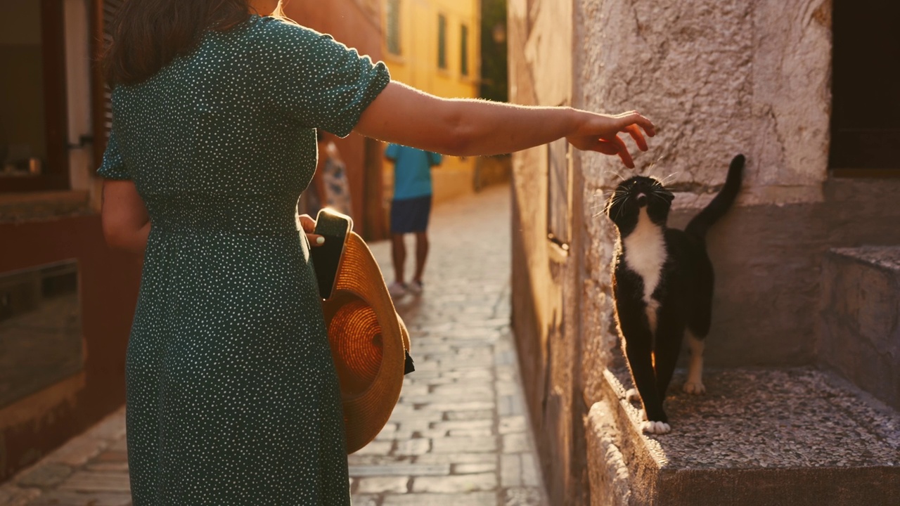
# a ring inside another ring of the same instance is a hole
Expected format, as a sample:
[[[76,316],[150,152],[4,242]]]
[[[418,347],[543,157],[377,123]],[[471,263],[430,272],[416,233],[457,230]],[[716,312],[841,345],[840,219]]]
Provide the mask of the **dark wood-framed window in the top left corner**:
[[[0,3],[0,191],[68,187],[62,0]]]

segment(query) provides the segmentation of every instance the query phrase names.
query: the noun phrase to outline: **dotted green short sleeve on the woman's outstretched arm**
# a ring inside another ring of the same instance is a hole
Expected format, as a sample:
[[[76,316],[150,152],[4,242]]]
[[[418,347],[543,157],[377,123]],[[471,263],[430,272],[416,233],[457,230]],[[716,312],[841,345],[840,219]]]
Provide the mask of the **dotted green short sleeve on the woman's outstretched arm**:
[[[267,93],[293,121],[347,137],[365,108],[391,82],[382,62],[330,35],[263,18],[259,36]]]

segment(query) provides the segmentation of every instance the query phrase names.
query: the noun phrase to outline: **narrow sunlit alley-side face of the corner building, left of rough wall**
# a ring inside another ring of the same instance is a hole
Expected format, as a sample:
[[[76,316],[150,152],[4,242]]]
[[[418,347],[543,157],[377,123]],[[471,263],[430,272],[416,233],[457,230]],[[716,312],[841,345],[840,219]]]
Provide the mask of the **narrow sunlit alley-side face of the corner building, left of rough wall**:
[[[572,4],[509,0],[510,102],[571,103]],[[547,239],[546,147],[513,155],[513,313],[552,504],[586,501],[585,412],[578,375],[579,252]]]

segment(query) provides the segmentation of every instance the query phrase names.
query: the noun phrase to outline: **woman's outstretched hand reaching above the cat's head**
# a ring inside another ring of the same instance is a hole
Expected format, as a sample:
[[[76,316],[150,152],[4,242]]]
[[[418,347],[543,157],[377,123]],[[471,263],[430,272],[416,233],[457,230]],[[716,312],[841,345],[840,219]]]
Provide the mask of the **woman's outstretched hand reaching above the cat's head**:
[[[635,140],[638,149],[647,150],[644,132],[650,137],[656,135],[653,122],[637,111],[616,115],[596,114],[580,111],[577,130],[566,136],[572,146],[582,151],[598,151],[605,155],[618,155],[628,168],[635,168],[635,161],[628,152],[625,141],[619,133],[628,133]],[[642,132],[642,129],[644,132]]]

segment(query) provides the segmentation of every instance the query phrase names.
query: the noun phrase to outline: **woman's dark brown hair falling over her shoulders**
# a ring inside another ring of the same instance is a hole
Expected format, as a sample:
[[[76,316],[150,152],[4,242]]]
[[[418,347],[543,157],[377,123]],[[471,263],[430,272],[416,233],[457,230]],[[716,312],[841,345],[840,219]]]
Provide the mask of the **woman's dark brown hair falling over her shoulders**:
[[[225,32],[249,17],[249,0],[125,0],[103,55],[106,79],[140,83],[196,48],[206,30]]]

